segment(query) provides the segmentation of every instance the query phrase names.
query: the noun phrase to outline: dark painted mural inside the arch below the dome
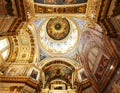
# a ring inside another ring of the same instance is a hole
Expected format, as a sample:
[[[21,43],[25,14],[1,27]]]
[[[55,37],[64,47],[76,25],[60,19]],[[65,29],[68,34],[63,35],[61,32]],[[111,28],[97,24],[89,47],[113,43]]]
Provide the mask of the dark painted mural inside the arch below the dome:
[[[72,70],[65,65],[49,65],[45,66],[45,80],[50,81],[53,79],[62,79],[67,82],[71,82]]]

